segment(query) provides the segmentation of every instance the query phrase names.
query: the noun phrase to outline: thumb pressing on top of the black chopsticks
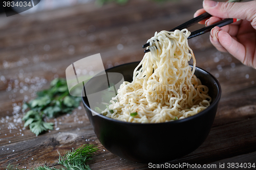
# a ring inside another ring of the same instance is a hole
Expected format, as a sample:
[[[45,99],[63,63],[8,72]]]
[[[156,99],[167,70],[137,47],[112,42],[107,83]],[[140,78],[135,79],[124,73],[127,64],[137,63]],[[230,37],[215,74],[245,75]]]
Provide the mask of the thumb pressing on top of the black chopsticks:
[[[206,12],[219,18],[238,18],[256,22],[256,1],[246,3],[221,3],[204,0]],[[256,23],[254,23],[256,25]]]

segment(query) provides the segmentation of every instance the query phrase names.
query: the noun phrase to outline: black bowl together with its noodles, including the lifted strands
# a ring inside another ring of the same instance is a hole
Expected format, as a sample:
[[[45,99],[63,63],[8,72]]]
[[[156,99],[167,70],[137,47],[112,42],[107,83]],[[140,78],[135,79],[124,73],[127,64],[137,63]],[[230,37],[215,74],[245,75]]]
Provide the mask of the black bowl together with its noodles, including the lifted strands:
[[[193,152],[208,136],[221,86],[196,67],[189,34],[186,29],[156,33],[140,62],[106,69],[84,86],[90,123],[111,153],[162,163]],[[194,65],[188,64],[191,58]],[[93,95],[100,100],[91,100]]]

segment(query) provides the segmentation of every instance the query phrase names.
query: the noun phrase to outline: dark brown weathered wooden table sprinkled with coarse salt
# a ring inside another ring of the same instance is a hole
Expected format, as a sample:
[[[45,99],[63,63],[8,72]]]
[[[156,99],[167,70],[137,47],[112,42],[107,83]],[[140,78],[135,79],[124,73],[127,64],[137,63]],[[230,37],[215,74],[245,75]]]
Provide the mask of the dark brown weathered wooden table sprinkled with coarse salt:
[[[147,169],[148,164],[121,159],[104,150],[83,107],[51,119],[54,130],[35,136],[23,128],[20,109],[34,92],[48,88],[66,68],[100,53],[105,68],[139,61],[141,45],[155,31],[170,30],[193,17],[202,1],[132,0],[126,5],[94,3],[39,12],[30,16],[1,17],[0,23],[0,169],[56,165],[65,154],[83,144],[99,152],[92,169]],[[197,25],[193,29],[201,26]],[[197,66],[215,75],[222,98],[214,125],[205,142],[193,153],[169,163],[256,163],[256,70],[218,52],[209,34],[189,40]],[[22,84],[20,84],[22,83]],[[26,87],[25,87],[26,86]],[[82,105],[81,105],[82,106]],[[59,130],[58,130],[59,129]]]

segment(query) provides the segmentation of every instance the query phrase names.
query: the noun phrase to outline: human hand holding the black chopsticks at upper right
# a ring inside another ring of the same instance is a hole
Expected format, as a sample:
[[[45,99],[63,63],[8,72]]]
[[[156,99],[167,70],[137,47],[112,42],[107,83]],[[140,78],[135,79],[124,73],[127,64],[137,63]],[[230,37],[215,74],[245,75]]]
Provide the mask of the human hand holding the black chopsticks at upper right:
[[[212,17],[199,23],[206,26],[223,18],[242,19],[222,28],[213,28],[210,41],[217,50],[228,52],[243,64],[256,69],[256,1],[221,3],[204,0],[203,9],[198,10],[194,17],[205,11]]]

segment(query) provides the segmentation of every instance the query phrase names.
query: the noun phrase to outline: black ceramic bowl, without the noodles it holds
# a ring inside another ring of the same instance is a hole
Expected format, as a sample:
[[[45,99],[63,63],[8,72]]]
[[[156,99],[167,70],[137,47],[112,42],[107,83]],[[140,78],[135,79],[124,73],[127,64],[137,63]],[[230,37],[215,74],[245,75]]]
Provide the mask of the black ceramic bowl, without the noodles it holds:
[[[125,81],[132,81],[133,71],[139,62],[119,65],[106,72],[119,72]],[[105,117],[92,116],[87,96],[82,97],[84,108],[101,144],[113,154],[136,162],[162,163],[185,156],[196,150],[209,134],[221,98],[218,80],[196,67],[195,75],[209,88],[212,102],[202,112],[181,120],[167,123],[126,123]],[[89,84],[98,88],[91,79]]]

